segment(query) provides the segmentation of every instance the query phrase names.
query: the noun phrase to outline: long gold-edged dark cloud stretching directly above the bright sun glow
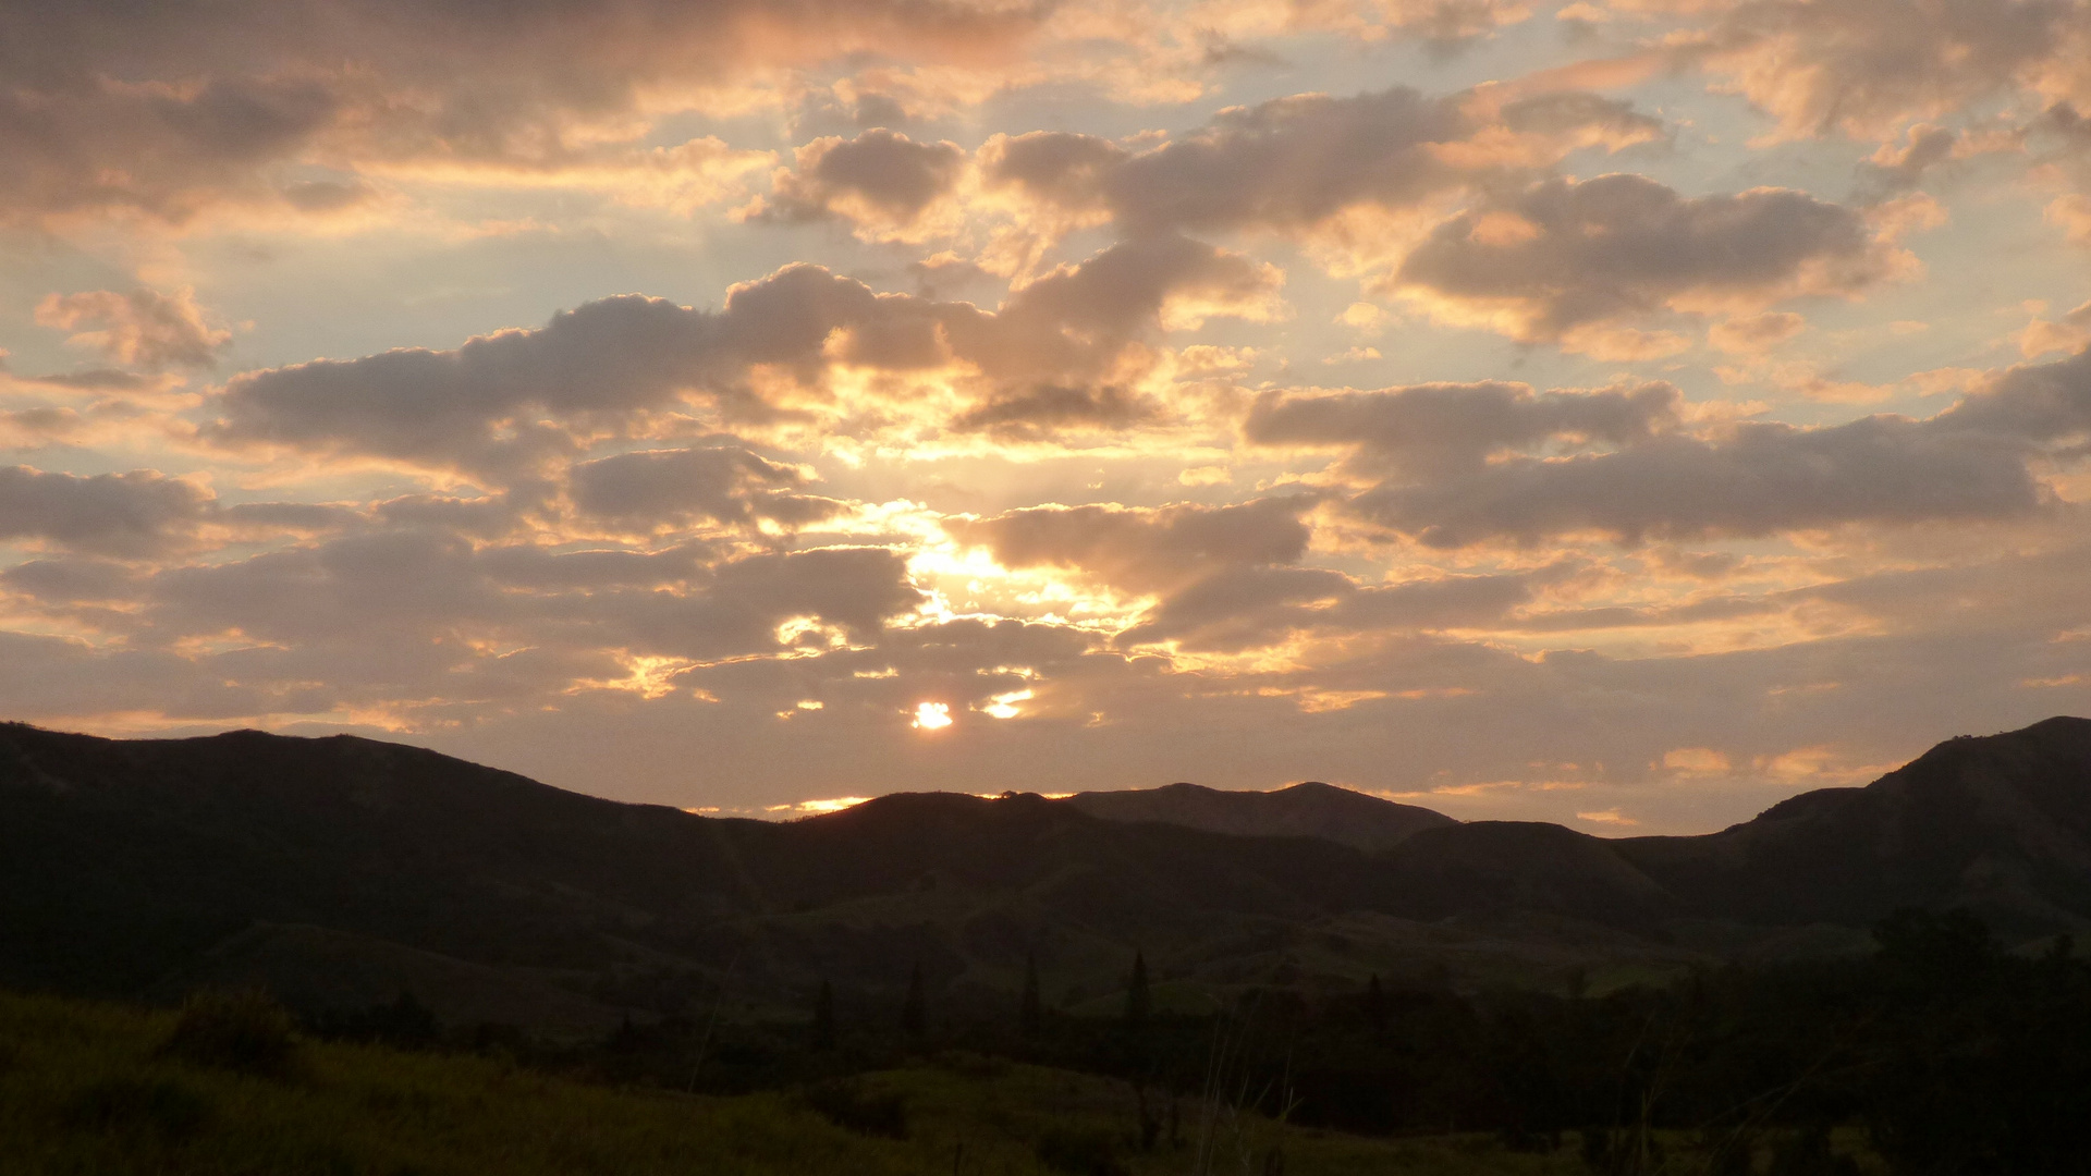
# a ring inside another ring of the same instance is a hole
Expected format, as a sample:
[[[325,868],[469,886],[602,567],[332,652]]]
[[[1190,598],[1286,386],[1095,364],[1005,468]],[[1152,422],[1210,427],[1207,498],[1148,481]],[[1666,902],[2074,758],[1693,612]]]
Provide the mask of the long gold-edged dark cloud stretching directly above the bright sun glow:
[[[721,310],[621,295],[500,331],[454,352],[397,349],[243,372],[205,435],[362,454],[510,479],[650,414],[707,408],[723,423],[826,412],[834,366],[983,385],[962,429],[1041,433],[1112,425],[1039,389],[1089,387],[1138,343],[1211,314],[1273,316],[1280,274],[1181,236],[1119,243],[1016,289],[993,314],[962,301],[874,293],[820,266],[786,266],[728,291]],[[765,372],[757,379],[757,372]],[[970,372],[979,372],[976,377]],[[1108,406],[1108,391],[1089,391]]]

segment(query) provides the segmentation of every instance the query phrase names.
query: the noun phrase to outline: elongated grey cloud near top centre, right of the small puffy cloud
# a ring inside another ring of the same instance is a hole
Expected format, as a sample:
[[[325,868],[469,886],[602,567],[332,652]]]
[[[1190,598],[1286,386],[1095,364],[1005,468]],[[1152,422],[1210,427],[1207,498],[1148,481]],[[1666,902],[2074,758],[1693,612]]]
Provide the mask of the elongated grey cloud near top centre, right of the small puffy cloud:
[[[1472,90],[1426,98],[1397,86],[1232,107],[1142,153],[1066,132],[995,138],[983,176],[1039,203],[1108,213],[1129,232],[1299,230],[1357,205],[1416,207],[1526,180],[1572,146],[1660,134],[1658,121],[1591,94],[1503,105]]]

